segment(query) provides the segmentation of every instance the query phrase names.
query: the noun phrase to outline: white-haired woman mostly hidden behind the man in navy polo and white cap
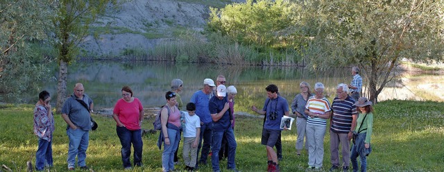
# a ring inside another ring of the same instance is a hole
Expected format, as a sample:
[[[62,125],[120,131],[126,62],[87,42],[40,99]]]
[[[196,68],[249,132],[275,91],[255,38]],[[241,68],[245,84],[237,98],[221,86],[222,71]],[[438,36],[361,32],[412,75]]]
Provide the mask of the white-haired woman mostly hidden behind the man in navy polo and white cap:
[[[234,96],[237,94],[237,89],[233,85],[227,87],[227,96],[228,96],[228,105],[230,105],[230,115],[231,115],[231,128],[234,131]],[[228,144],[227,138],[225,134],[222,138],[221,150],[219,151],[219,160],[222,160],[224,157],[228,157]]]

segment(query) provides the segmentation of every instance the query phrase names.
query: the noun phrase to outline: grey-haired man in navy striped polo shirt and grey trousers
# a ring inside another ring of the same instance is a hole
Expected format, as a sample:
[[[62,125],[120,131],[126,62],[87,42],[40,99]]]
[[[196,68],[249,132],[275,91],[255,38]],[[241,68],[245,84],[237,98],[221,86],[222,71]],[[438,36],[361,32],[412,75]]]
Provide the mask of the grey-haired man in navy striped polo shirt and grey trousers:
[[[348,171],[350,165],[350,139],[352,130],[355,130],[357,120],[357,110],[355,100],[348,95],[346,84],[340,83],[336,87],[336,97],[332,103],[332,117],[330,118],[330,160],[332,168],[330,171],[338,170],[339,144],[341,144],[343,171]]]

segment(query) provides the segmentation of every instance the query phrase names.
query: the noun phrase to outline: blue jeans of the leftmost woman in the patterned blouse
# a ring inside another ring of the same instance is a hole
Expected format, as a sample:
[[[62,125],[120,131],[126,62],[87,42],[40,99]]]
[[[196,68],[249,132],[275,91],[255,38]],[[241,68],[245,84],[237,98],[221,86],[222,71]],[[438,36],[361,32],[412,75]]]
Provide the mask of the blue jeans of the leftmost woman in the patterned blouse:
[[[44,166],[53,166],[53,143],[39,138],[39,146],[35,152],[35,170],[42,171]]]

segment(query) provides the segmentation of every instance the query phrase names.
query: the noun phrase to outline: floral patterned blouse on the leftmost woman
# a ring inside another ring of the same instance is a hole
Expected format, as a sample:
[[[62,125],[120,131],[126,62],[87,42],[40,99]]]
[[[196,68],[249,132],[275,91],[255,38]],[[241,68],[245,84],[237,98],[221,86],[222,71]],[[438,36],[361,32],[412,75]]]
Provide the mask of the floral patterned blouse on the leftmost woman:
[[[46,107],[42,105],[36,105],[34,108],[34,134],[41,139],[51,141],[53,131],[54,117],[52,112],[48,112]]]

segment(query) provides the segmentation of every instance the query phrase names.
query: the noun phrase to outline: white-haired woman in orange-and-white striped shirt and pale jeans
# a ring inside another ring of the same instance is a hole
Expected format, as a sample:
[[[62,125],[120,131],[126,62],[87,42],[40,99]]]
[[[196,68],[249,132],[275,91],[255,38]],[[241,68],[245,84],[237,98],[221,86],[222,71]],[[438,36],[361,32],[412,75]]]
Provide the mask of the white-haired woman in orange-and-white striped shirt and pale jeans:
[[[324,85],[314,84],[315,95],[305,105],[308,114],[305,134],[308,142],[308,169],[321,170],[324,157],[324,136],[327,119],[330,119],[331,107],[324,96]]]

